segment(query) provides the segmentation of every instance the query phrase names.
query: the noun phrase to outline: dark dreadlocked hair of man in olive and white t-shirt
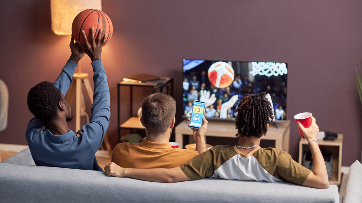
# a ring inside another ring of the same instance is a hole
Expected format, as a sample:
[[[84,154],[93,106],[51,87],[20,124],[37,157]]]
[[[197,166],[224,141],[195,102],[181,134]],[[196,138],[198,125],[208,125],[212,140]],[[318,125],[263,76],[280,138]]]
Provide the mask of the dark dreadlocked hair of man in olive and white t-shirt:
[[[238,126],[236,137],[246,135],[260,138],[266,133],[266,124],[274,119],[273,108],[266,98],[266,92],[246,94],[235,111],[235,125]]]

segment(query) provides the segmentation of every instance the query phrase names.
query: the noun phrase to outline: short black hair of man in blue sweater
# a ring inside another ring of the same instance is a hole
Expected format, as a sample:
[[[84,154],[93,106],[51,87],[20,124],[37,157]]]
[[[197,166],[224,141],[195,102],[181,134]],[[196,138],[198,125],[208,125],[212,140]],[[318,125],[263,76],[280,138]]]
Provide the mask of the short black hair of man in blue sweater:
[[[62,93],[52,82],[41,82],[28,93],[28,108],[45,125],[58,116],[58,103],[63,101]]]

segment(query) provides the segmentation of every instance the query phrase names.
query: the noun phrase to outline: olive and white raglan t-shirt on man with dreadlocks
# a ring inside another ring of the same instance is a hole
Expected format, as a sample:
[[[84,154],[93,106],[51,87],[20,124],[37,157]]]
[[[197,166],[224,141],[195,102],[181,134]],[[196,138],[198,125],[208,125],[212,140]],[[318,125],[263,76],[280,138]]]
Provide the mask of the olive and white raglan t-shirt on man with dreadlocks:
[[[282,150],[255,147],[249,154],[242,154],[228,145],[214,146],[180,168],[191,180],[223,178],[297,185],[302,185],[311,172]]]

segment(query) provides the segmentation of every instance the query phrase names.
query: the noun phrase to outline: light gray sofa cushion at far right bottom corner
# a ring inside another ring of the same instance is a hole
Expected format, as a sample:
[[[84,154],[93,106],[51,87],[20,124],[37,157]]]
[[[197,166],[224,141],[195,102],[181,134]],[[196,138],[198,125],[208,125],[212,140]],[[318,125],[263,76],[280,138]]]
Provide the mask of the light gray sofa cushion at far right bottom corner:
[[[344,203],[362,202],[362,164],[356,160],[348,172]]]

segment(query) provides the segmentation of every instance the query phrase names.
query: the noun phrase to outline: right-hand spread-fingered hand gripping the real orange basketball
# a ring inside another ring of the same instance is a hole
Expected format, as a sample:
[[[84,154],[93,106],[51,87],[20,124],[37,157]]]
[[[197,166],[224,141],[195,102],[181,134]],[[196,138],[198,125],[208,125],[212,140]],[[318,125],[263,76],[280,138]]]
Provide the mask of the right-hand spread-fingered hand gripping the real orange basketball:
[[[102,47],[103,47],[103,44],[106,42],[107,34],[105,34],[103,39],[101,39],[102,29],[100,29],[98,32],[97,39],[94,39],[94,27],[92,27],[91,30],[92,30],[92,32],[90,34],[91,35],[90,42],[88,41],[87,36],[85,36],[84,30],[82,30],[82,36],[83,36],[83,39],[84,39],[85,43],[87,44],[87,46],[83,46],[78,40],[76,42],[79,45],[79,47],[85,53],[87,53],[87,55],[90,57],[90,60],[92,60],[92,61],[101,60]]]

